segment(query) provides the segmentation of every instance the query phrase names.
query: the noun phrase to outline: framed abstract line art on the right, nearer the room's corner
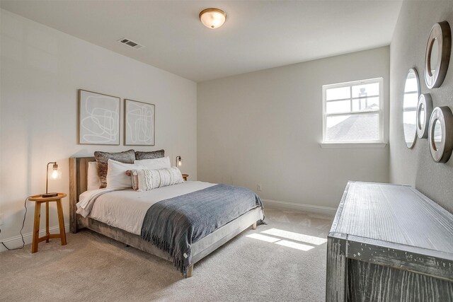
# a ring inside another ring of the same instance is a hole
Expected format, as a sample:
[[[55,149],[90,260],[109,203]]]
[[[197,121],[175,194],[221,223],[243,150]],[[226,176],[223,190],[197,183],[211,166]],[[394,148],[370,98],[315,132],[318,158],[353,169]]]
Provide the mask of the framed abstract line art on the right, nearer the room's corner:
[[[156,105],[125,99],[125,146],[155,145]]]

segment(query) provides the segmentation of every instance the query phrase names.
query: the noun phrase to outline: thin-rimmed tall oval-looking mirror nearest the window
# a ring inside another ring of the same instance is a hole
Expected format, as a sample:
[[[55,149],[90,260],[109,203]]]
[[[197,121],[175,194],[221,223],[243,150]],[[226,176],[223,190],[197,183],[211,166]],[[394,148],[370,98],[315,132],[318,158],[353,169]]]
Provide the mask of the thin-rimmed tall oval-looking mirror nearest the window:
[[[418,74],[415,68],[409,69],[404,85],[403,96],[403,129],[406,146],[412,148],[417,137],[417,104],[420,94],[420,83],[418,83]]]

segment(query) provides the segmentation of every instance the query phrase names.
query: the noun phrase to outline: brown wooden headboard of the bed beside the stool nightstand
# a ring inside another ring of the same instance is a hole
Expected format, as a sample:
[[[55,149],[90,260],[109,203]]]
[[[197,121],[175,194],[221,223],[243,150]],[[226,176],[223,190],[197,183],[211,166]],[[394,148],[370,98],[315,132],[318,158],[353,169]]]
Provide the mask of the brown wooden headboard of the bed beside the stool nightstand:
[[[77,231],[77,208],[79,195],[86,191],[86,175],[88,174],[88,162],[96,161],[94,157],[71,157],[69,158],[69,231]]]

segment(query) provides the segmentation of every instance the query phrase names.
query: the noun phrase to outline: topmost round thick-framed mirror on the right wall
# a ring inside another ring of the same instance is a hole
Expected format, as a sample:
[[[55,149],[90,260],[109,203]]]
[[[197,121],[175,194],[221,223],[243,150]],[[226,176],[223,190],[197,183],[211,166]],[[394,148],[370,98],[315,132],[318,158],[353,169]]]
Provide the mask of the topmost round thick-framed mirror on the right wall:
[[[425,82],[428,88],[442,85],[452,49],[452,33],[447,21],[432,26],[425,54]]]

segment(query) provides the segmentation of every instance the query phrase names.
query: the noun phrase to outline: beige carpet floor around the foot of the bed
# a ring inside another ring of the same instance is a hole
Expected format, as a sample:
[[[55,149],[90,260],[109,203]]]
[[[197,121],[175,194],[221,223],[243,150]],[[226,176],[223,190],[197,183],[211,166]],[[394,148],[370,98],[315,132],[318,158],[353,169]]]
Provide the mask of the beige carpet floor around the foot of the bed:
[[[188,279],[171,262],[80,231],[33,255],[30,245],[1,252],[0,301],[325,301],[326,243],[282,231],[326,238],[332,219],[266,209],[268,225],[236,236]]]

